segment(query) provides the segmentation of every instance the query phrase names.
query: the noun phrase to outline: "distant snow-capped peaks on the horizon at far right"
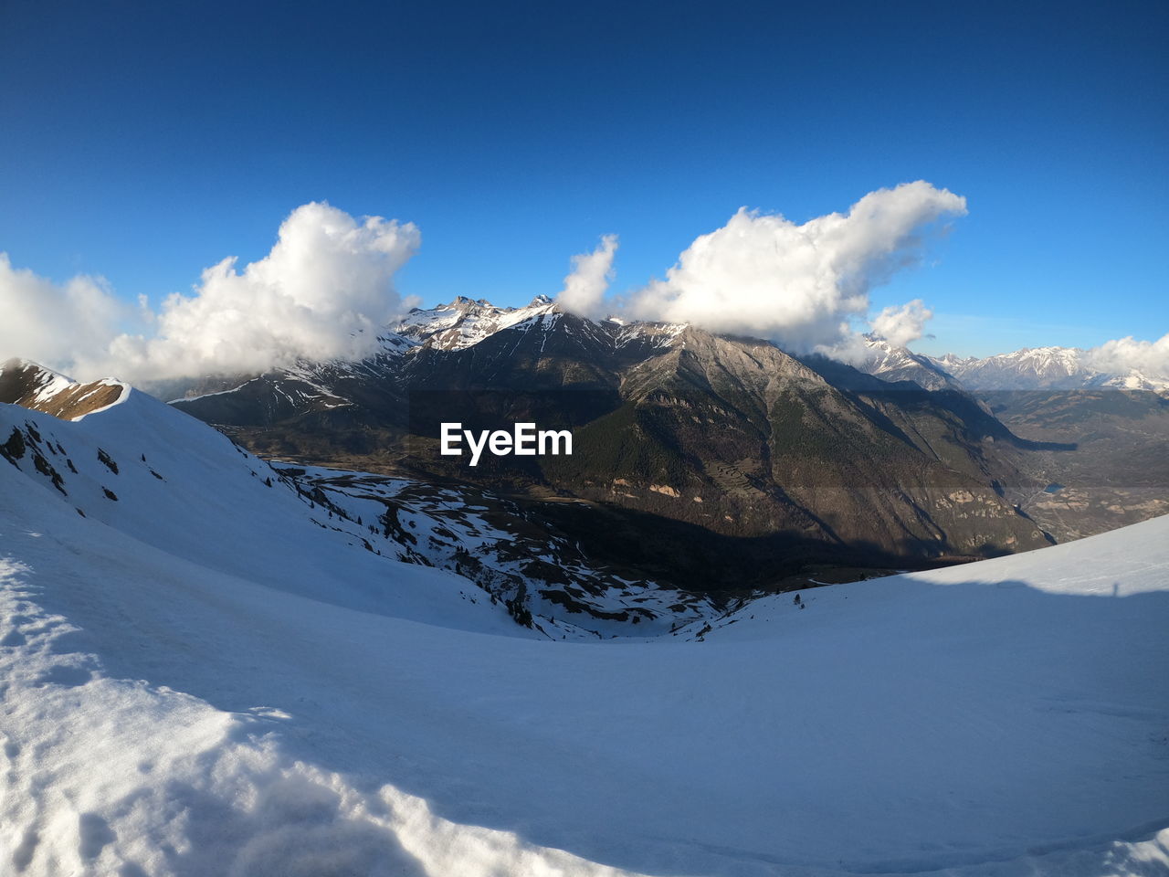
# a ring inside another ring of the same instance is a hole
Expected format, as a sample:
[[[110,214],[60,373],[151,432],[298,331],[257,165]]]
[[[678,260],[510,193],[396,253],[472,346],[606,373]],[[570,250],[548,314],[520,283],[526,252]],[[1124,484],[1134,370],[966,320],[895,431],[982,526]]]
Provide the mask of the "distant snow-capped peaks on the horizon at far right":
[[[946,354],[933,362],[971,389],[1080,389],[1111,387],[1163,392],[1169,377],[1146,375],[1132,368],[1123,374],[1102,372],[1079,347],[1024,347],[994,357],[960,358]]]

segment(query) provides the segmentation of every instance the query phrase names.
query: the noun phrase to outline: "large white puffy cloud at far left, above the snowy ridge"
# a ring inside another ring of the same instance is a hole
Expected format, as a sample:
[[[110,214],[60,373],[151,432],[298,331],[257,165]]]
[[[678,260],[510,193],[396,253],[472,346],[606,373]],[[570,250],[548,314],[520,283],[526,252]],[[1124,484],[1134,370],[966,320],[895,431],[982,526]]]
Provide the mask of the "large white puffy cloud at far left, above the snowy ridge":
[[[158,311],[119,303],[101,281],[63,286],[0,261],[0,355],[21,355],[78,378],[151,381],[262,372],[299,358],[360,358],[400,316],[394,274],[421,241],[413,223],[354,219],[327,203],[296,208],[271,251],[206,269],[193,295]],[[127,322],[139,331],[125,332]]]

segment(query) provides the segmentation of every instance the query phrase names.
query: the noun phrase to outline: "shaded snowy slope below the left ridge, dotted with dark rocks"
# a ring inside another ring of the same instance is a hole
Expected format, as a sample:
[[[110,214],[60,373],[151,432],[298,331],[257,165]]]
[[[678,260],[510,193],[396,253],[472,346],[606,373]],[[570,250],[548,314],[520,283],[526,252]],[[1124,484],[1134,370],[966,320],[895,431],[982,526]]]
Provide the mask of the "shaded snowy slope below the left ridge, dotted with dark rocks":
[[[168,555],[364,612],[523,633],[464,579],[366,550],[362,527],[194,417],[125,388],[69,422],[0,405],[0,464],[74,516]],[[8,517],[8,519],[14,519]]]

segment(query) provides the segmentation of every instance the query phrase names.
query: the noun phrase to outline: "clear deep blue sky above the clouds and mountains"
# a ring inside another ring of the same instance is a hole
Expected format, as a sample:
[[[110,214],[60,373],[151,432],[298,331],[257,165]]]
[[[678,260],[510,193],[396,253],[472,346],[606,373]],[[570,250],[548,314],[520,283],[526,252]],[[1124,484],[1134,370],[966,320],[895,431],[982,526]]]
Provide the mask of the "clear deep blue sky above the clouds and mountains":
[[[969,214],[872,294],[919,350],[1169,332],[1167,4],[243,6],[0,6],[13,265],[159,301],[327,200],[421,228],[403,295],[518,304],[925,179]]]

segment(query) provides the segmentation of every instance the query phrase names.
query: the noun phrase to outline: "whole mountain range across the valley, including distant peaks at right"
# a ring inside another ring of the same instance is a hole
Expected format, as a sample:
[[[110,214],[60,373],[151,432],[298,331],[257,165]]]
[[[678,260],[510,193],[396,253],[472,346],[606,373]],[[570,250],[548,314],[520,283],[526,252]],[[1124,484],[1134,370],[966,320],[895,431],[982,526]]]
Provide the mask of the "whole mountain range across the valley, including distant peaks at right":
[[[866,345],[852,367],[583,319],[544,296],[458,297],[413,310],[361,361],[151,389],[268,457],[496,491],[500,522],[700,593],[1026,550],[1169,511],[1165,394],[1130,389],[1148,379],[1092,372],[1072,348],[960,360]],[[7,401],[28,398],[18,371],[0,372]],[[437,454],[440,421],[519,419],[572,428],[574,454],[476,468]]]

